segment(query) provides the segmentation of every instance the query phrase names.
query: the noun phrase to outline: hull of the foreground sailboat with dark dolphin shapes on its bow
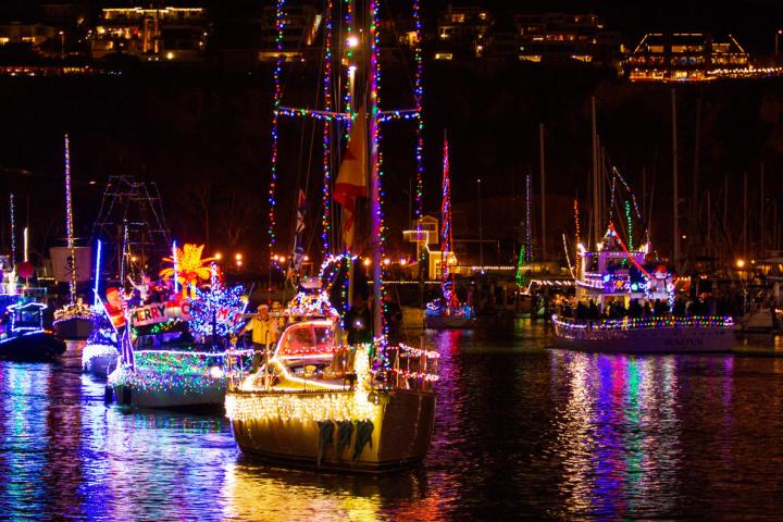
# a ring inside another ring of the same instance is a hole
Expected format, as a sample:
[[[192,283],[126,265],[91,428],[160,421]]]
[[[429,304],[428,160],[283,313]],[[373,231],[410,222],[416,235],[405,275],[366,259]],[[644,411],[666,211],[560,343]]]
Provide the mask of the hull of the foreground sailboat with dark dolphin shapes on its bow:
[[[334,399],[333,394],[352,391],[307,393],[308,400]],[[229,391],[229,398],[252,401],[259,393]],[[274,394],[272,394],[274,395]],[[283,395],[283,394],[281,394]],[[332,397],[327,397],[332,395]],[[232,419],[239,448],[268,462],[299,468],[314,468],[356,473],[382,473],[420,463],[430,447],[435,422],[435,395],[426,391],[382,391],[380,406],[369,422],[372,435],[358,455],[359,421],[350,424],[350,439],[340,445],[339,423],[309,419]],[[333,437],[324,444],[324,422],[332,424]],[[344,421],[350,423],[350,421]],[[366,424],[365,424],[366,426]],[[345,433],[345,432],[344,432]],[[345,440],[345,437],[343,437]]]

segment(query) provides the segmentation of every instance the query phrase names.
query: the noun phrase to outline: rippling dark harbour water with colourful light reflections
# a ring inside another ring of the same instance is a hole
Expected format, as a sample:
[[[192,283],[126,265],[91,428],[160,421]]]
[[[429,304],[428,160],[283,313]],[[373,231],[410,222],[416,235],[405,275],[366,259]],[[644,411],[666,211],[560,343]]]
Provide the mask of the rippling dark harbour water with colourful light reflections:
[[[76,346],[0,362],[0,520],[783,519],[783,358],[574,353],[526,321],[425,340],[433,448],[383,477],[269,468],[219,417],[105,407]]]

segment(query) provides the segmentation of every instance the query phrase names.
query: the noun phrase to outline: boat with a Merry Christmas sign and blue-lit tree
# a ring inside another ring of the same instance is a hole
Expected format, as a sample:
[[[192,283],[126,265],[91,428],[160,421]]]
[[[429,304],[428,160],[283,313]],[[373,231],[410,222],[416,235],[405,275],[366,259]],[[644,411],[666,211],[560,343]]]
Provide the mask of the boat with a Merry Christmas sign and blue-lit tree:
[[[166,302],[127,308],[120,363],[108,382],[117,403],[223,405],[229,369],[249,364],[251,351],[227,343],[241,324],[246,301],[240,286],[225,288],[216,274],[212,263],[209,287],[191,288],[191,298],[177,293]]]

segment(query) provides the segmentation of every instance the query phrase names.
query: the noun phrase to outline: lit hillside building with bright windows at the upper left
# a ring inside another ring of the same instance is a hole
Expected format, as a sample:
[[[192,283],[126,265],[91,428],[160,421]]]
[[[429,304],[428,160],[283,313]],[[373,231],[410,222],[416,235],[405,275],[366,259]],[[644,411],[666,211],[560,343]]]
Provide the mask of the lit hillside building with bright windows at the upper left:
[[[103,8],[91,35],[92,58],[122,52],[148,61],[199,60],[208,27],[201,7],[147,1],[137,7]]]

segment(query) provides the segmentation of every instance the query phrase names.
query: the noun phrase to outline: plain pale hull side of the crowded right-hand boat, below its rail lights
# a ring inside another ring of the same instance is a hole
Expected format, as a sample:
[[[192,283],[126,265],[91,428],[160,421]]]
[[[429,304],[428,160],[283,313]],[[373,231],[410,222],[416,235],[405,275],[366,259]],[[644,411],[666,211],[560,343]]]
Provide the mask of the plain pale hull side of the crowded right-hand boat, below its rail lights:
[[[588,323],[584,323],[588,324]],[[555,344],[580,351],[617,353],[725,352],[734,346],[732,326],[583,330],[574,332],[555,319]]]

